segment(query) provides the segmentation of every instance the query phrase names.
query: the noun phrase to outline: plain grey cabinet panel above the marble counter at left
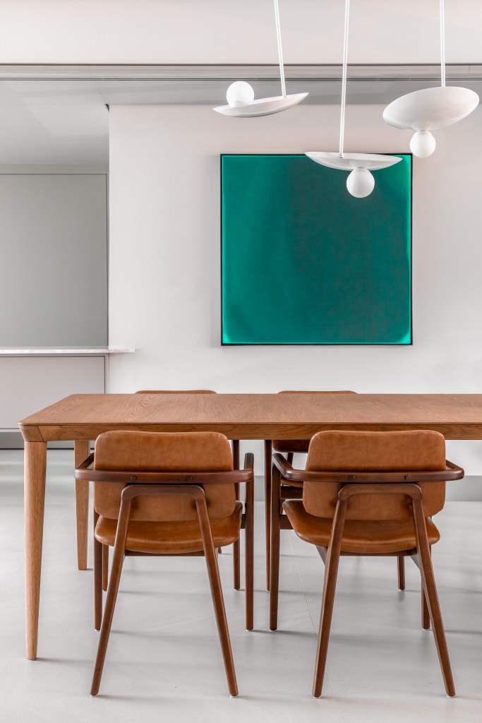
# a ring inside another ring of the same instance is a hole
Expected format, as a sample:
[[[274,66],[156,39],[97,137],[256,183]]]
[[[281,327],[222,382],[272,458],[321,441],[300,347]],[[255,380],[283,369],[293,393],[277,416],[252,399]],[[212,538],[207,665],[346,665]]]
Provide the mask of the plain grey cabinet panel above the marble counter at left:
[[[106,183],[0,167],[1,346],[108,343]]]

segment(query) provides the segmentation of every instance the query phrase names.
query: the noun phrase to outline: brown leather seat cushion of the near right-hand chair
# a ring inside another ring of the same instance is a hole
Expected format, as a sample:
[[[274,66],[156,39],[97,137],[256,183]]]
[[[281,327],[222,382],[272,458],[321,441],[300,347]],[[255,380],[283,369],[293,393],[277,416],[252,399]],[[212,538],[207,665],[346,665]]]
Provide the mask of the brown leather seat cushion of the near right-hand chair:
[[[328,547],[332,531],[332,518],[317,517],[306,512],[301,500],[283,504],[293,530],[305,542]],[[426,518],[429,544],[439,542],[440,534],[431,518]],[[406,520],[346,520],[343,529],[342,552],[377,555],[385,552],[403,552],[417,546],[413,521]]]

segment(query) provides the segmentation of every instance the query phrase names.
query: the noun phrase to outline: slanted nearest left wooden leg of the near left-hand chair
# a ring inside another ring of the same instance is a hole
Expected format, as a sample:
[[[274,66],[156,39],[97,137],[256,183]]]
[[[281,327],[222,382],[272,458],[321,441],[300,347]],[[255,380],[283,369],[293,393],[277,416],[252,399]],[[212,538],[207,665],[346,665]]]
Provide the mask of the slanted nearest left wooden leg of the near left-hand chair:
[[[119,591],[119,583],[121,581],[122,565],[124,565],[124,552],[126,549],[130,508],[130,500],[122,500],[119,521],[117,523],[116,544],[113,549],[111,578],[108,584],[106,608],[104,609],[102,625],[100,626],[99,646],[97,650],[97,658],[95,659],[92,688],[90,689],[91,696],[96,696],[99,692],[100,678],[102,677],[104,661],[106,660],[107,646],[109,636],[111,634],[113,611],[116,607],[117,593]]]

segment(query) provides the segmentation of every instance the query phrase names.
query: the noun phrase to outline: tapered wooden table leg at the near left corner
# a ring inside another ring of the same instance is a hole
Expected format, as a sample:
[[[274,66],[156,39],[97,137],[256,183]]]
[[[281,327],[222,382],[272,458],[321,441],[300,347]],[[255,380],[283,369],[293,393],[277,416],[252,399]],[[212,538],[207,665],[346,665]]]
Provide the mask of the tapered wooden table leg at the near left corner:
[[[25,442],[25,655],[37,656],[47,443]]]

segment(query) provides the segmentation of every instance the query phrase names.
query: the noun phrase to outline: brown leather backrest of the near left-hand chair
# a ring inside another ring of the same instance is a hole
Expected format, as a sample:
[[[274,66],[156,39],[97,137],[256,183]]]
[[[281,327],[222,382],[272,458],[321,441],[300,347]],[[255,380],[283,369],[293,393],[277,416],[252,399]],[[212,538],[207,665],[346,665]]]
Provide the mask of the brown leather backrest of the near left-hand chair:
[[[218,432],[103,432],[95,441],[94,469],[220,472],[233,469],[233,457],[228,439]],[[119,518],[122,489],[124,483],[95,482],[95,511],[103,517]],[[234,484],[206,484],[205,495],[210,517],[227,517],[233,513]],[[186,495],[136,497],[131,519],[194,520],[197,519],[196,505]]]

